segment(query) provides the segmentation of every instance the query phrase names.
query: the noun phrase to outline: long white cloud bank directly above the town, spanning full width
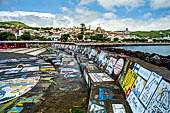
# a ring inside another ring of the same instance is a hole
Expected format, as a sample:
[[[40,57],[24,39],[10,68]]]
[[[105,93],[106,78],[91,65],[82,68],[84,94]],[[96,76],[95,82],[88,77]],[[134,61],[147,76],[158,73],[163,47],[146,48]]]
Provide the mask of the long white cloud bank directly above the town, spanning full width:
[[[93,29],[96,29],[100,24],[102,28],[110,31],[125,30],[125,28],[129,28],[131,31],[170,29],[170,15],[144,21],[132,18],[115,18],[115,15],[110,12],[102,14],[87,8],[77,7],[74,13],[75,15],[72,16],[64,16],[63,14],[39,12],[0,11],[0,21],[21,21],[29,26],[41,27],[73,27],[85,23],[86,26],[91,25]]]

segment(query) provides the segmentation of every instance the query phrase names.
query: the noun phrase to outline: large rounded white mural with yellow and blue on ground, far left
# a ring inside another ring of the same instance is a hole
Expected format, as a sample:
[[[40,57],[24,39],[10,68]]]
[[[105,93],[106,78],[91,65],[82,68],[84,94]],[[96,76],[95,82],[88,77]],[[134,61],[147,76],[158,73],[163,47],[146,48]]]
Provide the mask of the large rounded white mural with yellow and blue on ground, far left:
[[[31,90],[40,77],[17,78],[0,81],[0,103],[17,98]]]

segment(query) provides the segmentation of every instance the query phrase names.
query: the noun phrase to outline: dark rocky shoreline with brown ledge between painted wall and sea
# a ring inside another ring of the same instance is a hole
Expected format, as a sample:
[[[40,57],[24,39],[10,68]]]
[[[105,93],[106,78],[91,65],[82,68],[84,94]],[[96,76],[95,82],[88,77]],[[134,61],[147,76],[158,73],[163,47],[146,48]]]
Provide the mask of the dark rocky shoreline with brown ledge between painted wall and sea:
[[[131,51],[119,48],[100,48],[110,54],[127,55],[127,59],[141,64],[151,71],[155,71],[170,80],[170,55],[162,56],[156,53],[149,54],[140,51]]]

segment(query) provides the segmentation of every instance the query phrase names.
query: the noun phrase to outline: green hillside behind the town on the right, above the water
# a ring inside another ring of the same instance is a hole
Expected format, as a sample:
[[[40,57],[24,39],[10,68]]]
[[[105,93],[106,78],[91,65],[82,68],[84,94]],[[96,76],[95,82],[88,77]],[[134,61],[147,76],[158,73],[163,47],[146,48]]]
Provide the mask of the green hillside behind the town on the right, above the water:
[[[160,30],[160,31],[136,31],[136,32],[131,32],[130,34],[133,34],[139,37],[157,38],[157,37],[165,37],[165,36],[170,35],[170,29]]]

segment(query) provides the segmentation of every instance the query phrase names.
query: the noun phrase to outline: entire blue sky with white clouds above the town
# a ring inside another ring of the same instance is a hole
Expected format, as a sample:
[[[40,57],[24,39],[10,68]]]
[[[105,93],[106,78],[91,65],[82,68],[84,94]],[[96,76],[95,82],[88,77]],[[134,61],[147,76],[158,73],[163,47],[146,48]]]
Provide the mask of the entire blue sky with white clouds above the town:
[[[84,23],[108,31],[170,29],[170,0],[0,0],[0,21],[32,27]]]

